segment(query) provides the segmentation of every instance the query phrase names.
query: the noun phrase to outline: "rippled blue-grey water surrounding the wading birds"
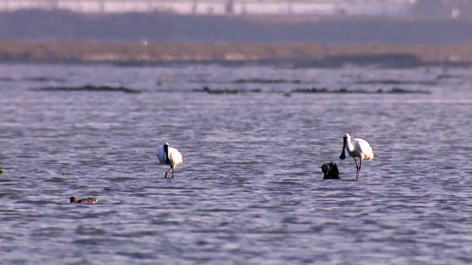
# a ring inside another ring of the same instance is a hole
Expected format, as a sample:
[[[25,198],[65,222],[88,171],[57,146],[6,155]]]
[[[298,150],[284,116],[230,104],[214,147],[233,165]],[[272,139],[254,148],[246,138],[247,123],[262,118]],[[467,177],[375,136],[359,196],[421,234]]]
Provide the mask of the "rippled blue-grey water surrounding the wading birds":
[[[472,72],[426,70],[0,65],[0,263],[472,263]],[[87,84],[144,92],[31,90]]]

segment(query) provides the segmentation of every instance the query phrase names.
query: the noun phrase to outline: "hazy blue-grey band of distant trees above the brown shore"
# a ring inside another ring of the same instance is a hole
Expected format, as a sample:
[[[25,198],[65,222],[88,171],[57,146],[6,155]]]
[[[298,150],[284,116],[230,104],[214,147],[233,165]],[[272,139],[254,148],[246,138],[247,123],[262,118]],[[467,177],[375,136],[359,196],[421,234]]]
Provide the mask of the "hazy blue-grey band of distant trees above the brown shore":
[[[324,44],[469,44],[472,21],[327,18],[269,22],[245,16],[173,13],[84,14],[65,10],[0,13],[0,40],[317,42]]]

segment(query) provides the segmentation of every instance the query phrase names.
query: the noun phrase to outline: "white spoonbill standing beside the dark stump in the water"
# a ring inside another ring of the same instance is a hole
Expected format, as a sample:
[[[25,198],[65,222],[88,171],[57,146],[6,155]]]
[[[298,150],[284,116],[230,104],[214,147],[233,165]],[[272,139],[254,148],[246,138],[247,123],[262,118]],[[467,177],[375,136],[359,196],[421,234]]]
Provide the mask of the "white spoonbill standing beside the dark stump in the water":
[[[360,167],[362,166],[362,159],[370,159],[374,158],[374,153],[372,152],[372,147],[370,144],[360,138],[352,138],[353,136],[346,133],[344,134],[344,144],[343,144],[343,152],[339,159],[346,159],[346,154],[344,153],[344,149],[348,151],[349,156],[354,158],[355,167],[357,168],[355,179],[358,180],[360,176]],[[359,165],[357,165],[357,160],[355,158],[359,158]]]

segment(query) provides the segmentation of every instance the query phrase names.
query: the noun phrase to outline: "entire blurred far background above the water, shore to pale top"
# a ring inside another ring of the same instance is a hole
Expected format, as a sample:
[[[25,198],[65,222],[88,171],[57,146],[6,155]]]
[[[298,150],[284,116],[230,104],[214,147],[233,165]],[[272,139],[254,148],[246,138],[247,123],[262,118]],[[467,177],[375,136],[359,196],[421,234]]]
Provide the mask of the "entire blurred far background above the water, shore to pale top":
[[[408,54],[464,63],[471,40],[469,0],[0,0],[0,62]]]

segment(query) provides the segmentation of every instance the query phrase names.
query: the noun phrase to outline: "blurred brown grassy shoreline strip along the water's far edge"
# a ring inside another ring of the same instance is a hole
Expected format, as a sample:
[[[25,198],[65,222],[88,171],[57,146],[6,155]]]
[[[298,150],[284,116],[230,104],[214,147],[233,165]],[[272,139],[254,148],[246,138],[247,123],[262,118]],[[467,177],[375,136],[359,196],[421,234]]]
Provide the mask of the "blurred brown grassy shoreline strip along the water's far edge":
[[[294,67],[385,67],[440,65],[470,67],[472,45],[317,43],[131,43],[0,42],[0,63],[110,63],[146,66],[167,63],[290,63]]]

